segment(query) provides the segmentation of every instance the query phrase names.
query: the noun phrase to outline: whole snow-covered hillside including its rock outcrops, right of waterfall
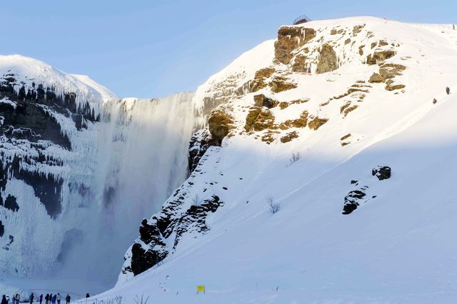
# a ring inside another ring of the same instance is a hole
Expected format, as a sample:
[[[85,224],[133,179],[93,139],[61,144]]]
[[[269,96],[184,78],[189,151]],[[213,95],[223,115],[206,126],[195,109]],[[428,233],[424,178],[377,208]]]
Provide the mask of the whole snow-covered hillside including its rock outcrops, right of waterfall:
[[[206,153],[96,298],[451,303],[456,59],[447,25],[282,27],[196,92],[227,96],[194,136]]]

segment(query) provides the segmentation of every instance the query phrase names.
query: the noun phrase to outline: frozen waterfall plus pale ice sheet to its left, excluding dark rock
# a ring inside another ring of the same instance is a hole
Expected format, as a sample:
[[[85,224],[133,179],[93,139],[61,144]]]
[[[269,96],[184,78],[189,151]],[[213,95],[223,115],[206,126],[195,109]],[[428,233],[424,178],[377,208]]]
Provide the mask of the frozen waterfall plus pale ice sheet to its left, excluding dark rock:
[[[33,190],[11,178],[6,191],[27,204],[8,219],[24,229],[15,235],[19,251],[11,248],[0,257],[2,271],[93,283],[91,292],[113,286],[141,219],[158,211],[186,179],[196,128],[193,96],[106,101],[101,121],[80,131],[53,113],[72,149],[51,146],[46,151],[63,166],[36,170],[63,181],[61,213],[50,218]]]

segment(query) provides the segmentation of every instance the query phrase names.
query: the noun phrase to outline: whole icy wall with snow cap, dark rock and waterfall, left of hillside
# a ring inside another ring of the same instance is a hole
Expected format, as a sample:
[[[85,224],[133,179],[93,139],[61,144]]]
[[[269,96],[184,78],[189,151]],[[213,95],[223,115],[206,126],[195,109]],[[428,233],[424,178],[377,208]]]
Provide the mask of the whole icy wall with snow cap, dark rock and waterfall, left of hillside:
[[[118,98],[0,56],[0,269],[114,284],[144,214],[187,176],[193,93]]]

